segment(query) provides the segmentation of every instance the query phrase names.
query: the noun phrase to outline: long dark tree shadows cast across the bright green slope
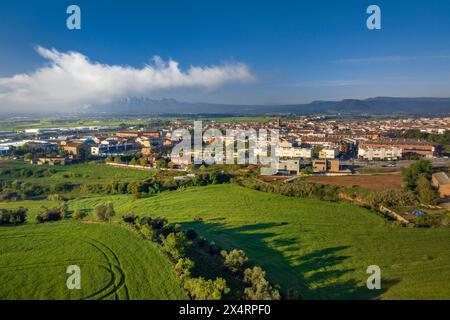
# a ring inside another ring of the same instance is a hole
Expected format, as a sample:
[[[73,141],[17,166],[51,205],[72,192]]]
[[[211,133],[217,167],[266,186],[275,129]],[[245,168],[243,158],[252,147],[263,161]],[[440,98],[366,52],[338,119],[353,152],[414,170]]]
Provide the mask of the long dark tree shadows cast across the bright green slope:
[[[199,235],[208,241],[215,241],[223,249],[244,250],[250,263],[261,266],[266,270],[268,280],[280,286],[284,297],[291,291],[302,299],[378,299],[399,282],[382,278],[382,289],[369,290],[365,283],[369,276],[366,270],[342,266],[350,258],[345,254],[349,246],[328,247],[300,255],[301,244],[298,239],[277,239],[278,234],[268,230],[286,224],[260,223],[230,227],[217,222],[199,221],[183,223],[183,228],[195,229]],[[219,269],[214,272],[214,276],[220,276],[220,267],[211,267],[210,270]]]

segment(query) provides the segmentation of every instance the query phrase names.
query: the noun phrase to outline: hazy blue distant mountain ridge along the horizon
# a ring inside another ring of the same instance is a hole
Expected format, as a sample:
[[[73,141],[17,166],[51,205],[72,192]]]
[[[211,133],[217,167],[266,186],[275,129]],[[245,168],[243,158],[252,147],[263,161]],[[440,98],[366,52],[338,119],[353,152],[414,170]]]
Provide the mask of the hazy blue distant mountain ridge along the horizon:
[[[174,99],[122,98],[108,105],[92,106],[88,113],[111,114],[346,114],[346,115],[450,115],[450,98],[390,98],[314,101],[292,105],[227,105],[189,103]]]

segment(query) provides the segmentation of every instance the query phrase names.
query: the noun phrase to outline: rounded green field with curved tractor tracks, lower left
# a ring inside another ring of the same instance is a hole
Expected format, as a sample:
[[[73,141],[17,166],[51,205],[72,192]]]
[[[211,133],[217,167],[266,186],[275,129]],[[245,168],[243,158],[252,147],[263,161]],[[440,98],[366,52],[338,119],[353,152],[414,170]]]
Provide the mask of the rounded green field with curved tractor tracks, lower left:
[[[167,258],[117,225],[0,227],[0,299],[183,299]],[[81,289],[68,290],[68,265]]]

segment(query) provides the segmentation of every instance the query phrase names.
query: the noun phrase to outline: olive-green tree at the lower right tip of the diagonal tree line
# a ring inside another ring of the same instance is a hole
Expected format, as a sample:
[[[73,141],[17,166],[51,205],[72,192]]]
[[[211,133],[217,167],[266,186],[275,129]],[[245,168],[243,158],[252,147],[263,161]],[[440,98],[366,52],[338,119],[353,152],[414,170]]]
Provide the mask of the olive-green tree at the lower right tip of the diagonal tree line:
[[[251,286],[244,289],[247,300],[280,300],[278,290],[272,288],[266,280],[266,272],[261,267],[247,268],[244,271],[244,282]]]

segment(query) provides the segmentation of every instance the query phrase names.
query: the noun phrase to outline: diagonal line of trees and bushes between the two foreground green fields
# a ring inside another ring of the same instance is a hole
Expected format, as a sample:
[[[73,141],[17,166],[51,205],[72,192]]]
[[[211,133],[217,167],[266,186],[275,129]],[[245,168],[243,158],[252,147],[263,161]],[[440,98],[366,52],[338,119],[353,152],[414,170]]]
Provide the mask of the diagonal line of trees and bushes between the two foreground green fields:
[[[265,271],[259,266],[249,265],[243,250],[233,249],[229,252],[220,250],[214,242],[189,228],[183,230],[179,224],[169,224],[164,217],[138,217],[127,214],[122,217],[127,225],[141,234],[145,239],[157,243],[174,265],[177,278],[182,283],[189,297],[195,300],[223,299],[230,293],[226,279],[216,277],[206,279],[198,274],[192,252],[201,251],[207,256],[220,259],[223,270],[228,272],[243,287],[242,299],[246,300],[278,300],[281,295],[266,279]],[[202,261],[202,263],[205,263]],[[211,264],[210,266],[213,266]]]

